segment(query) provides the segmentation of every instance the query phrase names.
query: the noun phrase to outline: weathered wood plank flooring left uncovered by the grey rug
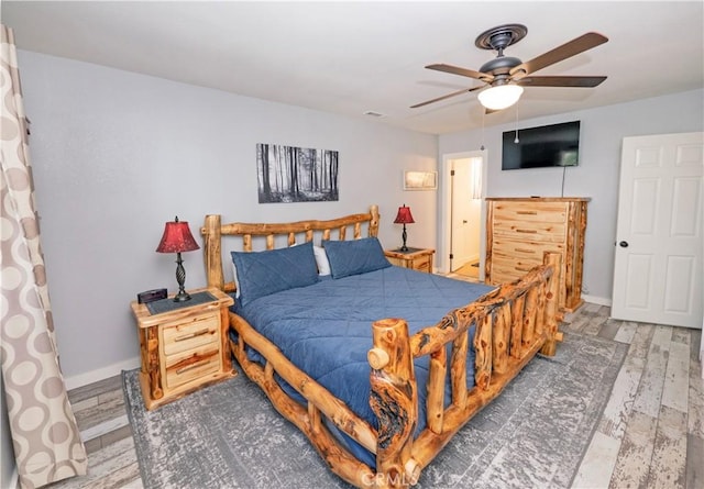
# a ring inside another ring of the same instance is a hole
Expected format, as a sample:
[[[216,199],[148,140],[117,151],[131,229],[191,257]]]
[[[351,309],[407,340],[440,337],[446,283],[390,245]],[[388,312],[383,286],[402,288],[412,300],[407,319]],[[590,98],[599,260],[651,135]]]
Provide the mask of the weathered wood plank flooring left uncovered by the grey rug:
[[[701,331],[615,321],[609,308],[590,303],[568,314],[562,331],[630,345],[573,487],[704,488]],[[75,389],[69,399],[88,475],[50,487],[142,488],[121,378]]]

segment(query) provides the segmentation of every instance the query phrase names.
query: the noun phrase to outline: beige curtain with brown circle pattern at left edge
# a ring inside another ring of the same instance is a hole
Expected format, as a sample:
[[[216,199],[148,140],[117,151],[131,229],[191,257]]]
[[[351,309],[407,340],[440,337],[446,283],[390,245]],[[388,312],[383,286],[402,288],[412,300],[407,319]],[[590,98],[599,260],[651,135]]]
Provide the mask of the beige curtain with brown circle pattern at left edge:
[[[86,474],[86,449],[58,366],[12,30],[0,63],[0,353],[20,484]]]

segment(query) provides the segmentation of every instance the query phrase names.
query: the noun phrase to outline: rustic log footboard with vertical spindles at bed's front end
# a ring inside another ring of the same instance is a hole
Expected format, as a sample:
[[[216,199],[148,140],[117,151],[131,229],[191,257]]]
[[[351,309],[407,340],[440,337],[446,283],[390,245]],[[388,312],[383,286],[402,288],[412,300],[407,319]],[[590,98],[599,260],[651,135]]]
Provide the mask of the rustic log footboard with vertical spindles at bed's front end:
[[[560,255],[546,253],[544,265],[455,309],[410,338],[404,320],[374,323],[370,402],[384,426],[378,433],[376,487],[415,485],[420,470],[538,352],[554,355],[556,342],[562,338],[558,332],[559,270]],[[466,332],[473,324],[475,378],[474,387],[468,389]],[[413,362],[424,355],[430,356],[427,427],[413,440],[418,422]],[[448,376],[450,400],[444,399]]]

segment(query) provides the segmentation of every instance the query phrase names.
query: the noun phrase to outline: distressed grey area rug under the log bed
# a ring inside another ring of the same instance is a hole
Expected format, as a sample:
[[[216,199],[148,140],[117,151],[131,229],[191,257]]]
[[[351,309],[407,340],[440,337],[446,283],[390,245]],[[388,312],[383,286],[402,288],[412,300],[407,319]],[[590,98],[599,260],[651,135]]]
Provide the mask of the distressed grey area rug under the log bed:
[[[569,488],[626,356],[622,343],[565,333],[424,470],[420,488]],[[146,411],[123,373],[144,488],[349,488],[240,375]]]

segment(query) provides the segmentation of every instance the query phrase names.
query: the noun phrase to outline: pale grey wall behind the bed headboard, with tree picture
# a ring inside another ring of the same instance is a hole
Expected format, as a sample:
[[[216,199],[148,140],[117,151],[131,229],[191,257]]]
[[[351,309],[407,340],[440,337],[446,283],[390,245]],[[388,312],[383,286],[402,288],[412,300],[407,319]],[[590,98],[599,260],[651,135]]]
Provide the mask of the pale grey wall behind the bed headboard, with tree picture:
[[[21,51],[19,66],[68,388],[139,366],[130,301],[176,288],[175,256],[155,253],[175,215],[200,242],[207,213],[282,222],[378,203],[380,238],[393,247],[406,203],[411,244],[436,245],[435,192],[404,192],[402,175],[436,169],[437,136],[36,53]],[[339,151],[340,200],[258,204],[257,143]],[[186,287],[205,286],[201,252],[183,258]]]

